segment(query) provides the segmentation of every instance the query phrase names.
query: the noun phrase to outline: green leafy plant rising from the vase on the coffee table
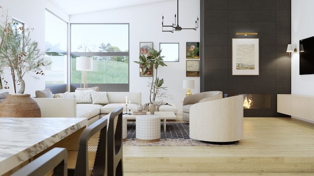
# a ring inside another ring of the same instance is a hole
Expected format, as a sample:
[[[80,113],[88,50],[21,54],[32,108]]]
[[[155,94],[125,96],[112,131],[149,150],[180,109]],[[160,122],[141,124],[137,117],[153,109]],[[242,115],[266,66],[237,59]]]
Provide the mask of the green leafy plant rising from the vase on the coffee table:
[[[139,61],[134,61],[136,64],[140,65],[140,68],[144,73],[146,73],[149,68],[152,66],[155,68],[155,71],[152,71],[152,82],[149,83],[150,87],[150,105],[153,105],[156,99],[156,96],[158,94],[158,91],[160,89],[166,89],[166,87],[162,87],[164,80],[159,79],[157,73],[158,73],[158,66],[167,66],[164,62],[163,59],[164,56],[160,56],[161,50],[157,51],[154,48],[149,48],[149,53],[147,56],[145,55],[139,55]],[[152,112],[151,112],[152,113]],[[153,112],[154,113],[154,112]]]

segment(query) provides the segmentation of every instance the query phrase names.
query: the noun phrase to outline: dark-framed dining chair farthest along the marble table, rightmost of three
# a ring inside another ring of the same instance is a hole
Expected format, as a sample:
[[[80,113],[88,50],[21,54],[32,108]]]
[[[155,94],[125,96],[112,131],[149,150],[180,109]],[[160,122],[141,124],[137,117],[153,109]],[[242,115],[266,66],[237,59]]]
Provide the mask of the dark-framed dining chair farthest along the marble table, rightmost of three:
[[[108,176],[123,176],[122,112],[119,107],[110,113],[108,126]]]

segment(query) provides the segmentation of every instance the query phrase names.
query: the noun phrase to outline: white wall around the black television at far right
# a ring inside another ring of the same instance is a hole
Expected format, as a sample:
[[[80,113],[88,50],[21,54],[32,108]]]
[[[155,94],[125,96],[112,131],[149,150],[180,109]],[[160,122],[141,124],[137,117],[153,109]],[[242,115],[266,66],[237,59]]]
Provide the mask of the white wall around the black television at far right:
[[[314,36],[314,0],[291,0],[291,44]],[[314,74],[299,75],[299,54],[291,58],[291,94],[314,95]]]

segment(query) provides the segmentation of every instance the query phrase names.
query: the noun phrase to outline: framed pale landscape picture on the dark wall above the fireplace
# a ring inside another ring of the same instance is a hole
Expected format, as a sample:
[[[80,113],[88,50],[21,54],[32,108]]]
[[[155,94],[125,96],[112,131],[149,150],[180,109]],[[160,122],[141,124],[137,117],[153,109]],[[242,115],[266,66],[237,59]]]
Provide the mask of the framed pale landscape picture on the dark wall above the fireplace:
[[[232,39],[232,75],[259,75],[259,39]]]

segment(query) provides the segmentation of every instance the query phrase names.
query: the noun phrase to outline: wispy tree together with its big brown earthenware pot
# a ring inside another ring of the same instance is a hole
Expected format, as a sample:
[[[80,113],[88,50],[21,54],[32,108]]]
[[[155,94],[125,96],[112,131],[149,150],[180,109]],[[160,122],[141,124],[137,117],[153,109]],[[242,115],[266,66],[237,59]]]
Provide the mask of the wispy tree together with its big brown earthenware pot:
[[[30,73],[34,78],[37,75],[44,75],[41,68],[45,66],[44,53],[38,48],[38,43],[30,39],[32,29],[24,28],[10,23],[8,16],[3,15],[0,20],[0,73],[9,70],[12,78],[13,95],[7,95],[0,103],[1,117],[40,117],[41,112],[38,104],[30,98],[30,94],[23,94],[25,91],[25,81],[23,77]],[[5,87],[8,81],[3,77]],[[16,91],[16,86],[20,85],[20,90]]]

